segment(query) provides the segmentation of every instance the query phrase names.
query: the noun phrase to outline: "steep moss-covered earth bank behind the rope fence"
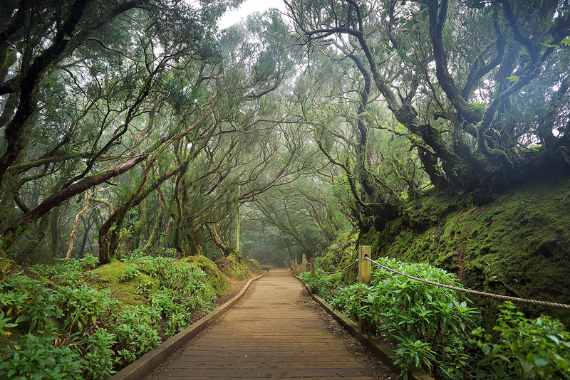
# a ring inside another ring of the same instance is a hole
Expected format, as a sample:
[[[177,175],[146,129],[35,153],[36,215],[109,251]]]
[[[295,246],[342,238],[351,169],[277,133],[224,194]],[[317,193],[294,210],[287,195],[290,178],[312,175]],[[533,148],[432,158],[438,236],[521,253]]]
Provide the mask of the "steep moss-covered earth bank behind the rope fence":
[[[472,194],[424,194],[409,199],[383,231],[371,228],[348,244],[340,265],[371,246],[373,258],[430,263],[456,273],[474,290],[570,304],[570,177],[529,181],[476,206]],[[339,257],[340,256],[340,257]],[[352,269],[352,268],[351,268]],[[356,279],[352,269],[347,283]],[[494,324],[492,298],[471,297]],[[530,317],[551,315],[570,327],[567,310],[519,304]]]

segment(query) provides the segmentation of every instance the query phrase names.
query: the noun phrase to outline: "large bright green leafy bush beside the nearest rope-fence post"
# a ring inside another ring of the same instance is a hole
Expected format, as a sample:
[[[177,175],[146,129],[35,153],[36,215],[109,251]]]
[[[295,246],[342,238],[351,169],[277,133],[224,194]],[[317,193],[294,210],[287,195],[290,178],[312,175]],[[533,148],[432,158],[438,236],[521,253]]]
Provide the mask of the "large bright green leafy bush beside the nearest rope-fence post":
[[[454,275],[427,264],[378,260],[389,268],[425,280],[460,287]],[[479,313],[453,290],[427,285],[375,267],[373,284],[338,290],[332,305],[387,337],[395,347],[395,362],[406,377],[410,369],[465,370],[465,352],[457,339],[473,327]],[[454,344],[455,343],[455,344]],[[453,349],[447,349],[453,345]],[[446,350],[447,349],[447,350]],[[450,357],[454,354],[455,357]]]

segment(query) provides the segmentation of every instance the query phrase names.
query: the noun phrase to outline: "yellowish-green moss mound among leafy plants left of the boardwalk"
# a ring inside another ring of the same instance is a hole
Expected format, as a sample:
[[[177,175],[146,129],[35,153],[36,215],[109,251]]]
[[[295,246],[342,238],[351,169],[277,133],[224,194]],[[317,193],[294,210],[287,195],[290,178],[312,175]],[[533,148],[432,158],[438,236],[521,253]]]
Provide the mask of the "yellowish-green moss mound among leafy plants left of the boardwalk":
[[[147,301],[143,295],[137,293],[137,285],[143,282],[150,282],[154,284],[151,292],[155,292],[160,286],[160,281],[156,278],[151,278],[147,275],[141,274],[137,280],[120,281],[119,275],[125,270],[130,269],[131,264],[123,263],[117,259],[111,259],[110,263],[101,265],[93,270],[95,278],[90,280],[90,287],[95,289],[109,289],[111,295],[125,304],[141,305]]]

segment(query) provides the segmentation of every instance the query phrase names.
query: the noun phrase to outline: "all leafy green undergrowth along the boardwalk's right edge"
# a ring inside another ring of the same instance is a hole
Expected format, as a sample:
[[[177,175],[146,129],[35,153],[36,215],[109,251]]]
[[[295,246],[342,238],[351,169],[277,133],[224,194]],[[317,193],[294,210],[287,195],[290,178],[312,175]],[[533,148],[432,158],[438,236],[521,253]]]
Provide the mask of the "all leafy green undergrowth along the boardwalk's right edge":
[[[316,260],[318,263],[318,259]],[[427,264],[378,261],[408,275],[462,287],[455,275]],[[318,265],[318,264],[317,264]],[[465,293],[375,267],[372,285],[344,286],[341,275],[301,275],[306,285],[395,350],[400,376],[420,369],[436,379],[570,379],[570,334],[557,320],[524,318],[507,302],[497,336],[480,327],[480,310]],[[478,348],[479,347],[479,348]]]

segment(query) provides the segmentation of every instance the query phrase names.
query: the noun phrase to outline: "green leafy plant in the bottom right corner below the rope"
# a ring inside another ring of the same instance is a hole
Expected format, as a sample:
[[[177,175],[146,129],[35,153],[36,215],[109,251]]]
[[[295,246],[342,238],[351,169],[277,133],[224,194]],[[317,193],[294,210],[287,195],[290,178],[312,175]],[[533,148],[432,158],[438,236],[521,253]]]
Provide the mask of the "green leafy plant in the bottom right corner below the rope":
[[[570,379],[570,334],[550,317],[529,320],[512,302],[500,307],[499,342],[492,343],[482,328],[473,334],[477,345],[492,360],[497,376],[514,369],[519,379]]]

